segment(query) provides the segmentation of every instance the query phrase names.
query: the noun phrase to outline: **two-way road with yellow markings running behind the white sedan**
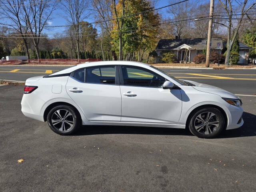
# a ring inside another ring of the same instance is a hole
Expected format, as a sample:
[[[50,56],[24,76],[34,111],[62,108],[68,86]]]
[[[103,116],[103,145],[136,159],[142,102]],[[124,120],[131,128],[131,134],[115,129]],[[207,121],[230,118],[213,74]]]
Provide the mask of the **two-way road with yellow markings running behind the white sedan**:
[[[33,76],[48,75],[66,67],[52,66],[0,66],[0,80],[25,81]],[[173,76],[210,84],[234,94],[256,94],[256,70],[244,69],[162,69]]]

